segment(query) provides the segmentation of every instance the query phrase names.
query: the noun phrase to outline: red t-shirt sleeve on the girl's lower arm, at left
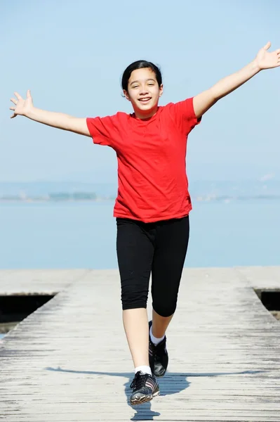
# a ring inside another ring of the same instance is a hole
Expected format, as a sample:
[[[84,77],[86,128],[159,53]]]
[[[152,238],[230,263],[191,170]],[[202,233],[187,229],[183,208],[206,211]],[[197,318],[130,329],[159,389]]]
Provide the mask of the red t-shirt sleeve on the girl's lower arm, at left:
[[[107,117],[87,117],[88,131],[93,143],[114,147],[116,138],[116,115]]]

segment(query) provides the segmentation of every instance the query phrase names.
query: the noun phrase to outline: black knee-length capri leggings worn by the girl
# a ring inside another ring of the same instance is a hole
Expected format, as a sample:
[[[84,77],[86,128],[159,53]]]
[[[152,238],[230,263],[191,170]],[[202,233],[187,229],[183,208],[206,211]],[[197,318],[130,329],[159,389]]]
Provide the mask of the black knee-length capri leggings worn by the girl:
[[[152,271],[152,306],[174,314],[189,241],[189,217],[143,223],[116,218],[116,252],[123,309],[146,308]]]

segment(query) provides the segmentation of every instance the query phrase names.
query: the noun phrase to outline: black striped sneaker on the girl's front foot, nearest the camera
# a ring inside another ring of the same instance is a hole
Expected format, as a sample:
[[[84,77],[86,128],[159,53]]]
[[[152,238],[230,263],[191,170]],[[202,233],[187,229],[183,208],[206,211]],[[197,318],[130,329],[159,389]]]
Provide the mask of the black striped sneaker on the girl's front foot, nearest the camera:
[[[134,379],[131,383],[133,393],[131,395],[131,404],[142,404],[149,402],[153,397],[159,395],[159,384],[154,375],[149,373],[142,373],[138,371],[135,373]]]

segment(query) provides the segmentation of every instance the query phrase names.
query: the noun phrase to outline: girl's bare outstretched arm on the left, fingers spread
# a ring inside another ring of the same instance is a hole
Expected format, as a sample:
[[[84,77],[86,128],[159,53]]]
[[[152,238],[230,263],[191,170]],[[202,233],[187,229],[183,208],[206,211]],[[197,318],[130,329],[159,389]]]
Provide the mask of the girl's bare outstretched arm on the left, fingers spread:
[[[88,132],[86,118],[72,117],[63,113],[40,110],[33,106],[30,91],[27,91],[26,99],[22,98],[17,92],[15,92],[15,97],[16,98],[11,98],[12,103],[15,104],[15,107],[10,108],[10,110],[13,110],[11,118],[22,115],[35,122],[47,124],[48,126],[68,130],[69,132],[74,132],[76,134],[91,136]]]

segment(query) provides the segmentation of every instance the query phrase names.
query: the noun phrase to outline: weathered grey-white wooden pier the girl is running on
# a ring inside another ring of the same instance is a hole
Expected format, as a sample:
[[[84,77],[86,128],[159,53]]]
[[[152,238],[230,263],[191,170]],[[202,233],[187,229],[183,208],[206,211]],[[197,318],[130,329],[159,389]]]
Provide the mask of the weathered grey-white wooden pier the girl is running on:
[[[280,321],[254,288],[280,267],[185,269],[161,395],[131,407],[118,271],[0,271],[0,295],[58,293],[0,340],[0,420],[280,422]]]

